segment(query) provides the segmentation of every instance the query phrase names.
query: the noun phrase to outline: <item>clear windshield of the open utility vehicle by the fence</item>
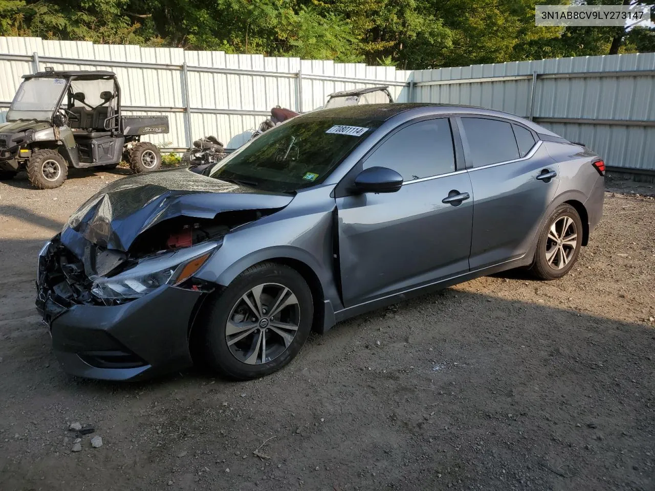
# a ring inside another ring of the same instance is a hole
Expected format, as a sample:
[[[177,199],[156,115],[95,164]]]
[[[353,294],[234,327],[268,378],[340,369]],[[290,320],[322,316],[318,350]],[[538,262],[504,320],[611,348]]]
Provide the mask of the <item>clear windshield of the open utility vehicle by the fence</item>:
[[[65,79],[54,77],[27,79],[18,87],[18,92],[9,107],[7,120],[49,121],[65,88]]]

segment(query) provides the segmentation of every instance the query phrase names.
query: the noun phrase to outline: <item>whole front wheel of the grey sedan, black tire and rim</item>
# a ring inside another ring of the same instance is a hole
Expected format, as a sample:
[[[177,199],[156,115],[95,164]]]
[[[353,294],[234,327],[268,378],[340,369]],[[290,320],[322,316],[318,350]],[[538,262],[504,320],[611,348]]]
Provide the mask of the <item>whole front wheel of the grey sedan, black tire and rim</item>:
[[[253,292],[259,292],[263,316],[253,310],[258,308]],[[282,308],[276,308],[283,292]],[[296,270],[276,263],[248,268],[227,289],[208,299],[207,306],[200,323],[204,365],[236,380],[265,376],[287,365],[305,344],[314,315],[307,282]],[[270,315],[273,308],[276,312],[267,317],[266,310]]]

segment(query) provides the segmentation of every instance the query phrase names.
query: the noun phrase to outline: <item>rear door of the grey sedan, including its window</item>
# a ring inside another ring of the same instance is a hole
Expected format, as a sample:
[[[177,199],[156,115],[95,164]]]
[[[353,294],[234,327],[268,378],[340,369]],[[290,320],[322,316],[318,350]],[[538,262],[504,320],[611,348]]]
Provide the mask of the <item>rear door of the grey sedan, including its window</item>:
[[[471,270],[531,253],[557,192],[557,163],[521,124],[488,117],[461,117],[458,124],[476,197]]]

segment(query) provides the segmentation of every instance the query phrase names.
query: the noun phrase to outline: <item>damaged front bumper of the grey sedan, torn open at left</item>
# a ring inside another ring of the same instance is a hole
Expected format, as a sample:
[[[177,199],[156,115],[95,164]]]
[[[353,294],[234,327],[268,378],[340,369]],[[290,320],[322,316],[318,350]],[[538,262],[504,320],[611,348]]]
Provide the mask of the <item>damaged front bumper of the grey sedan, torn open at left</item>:
[[[69,284],[60,285],[76,273],[62,261],[61,247],[54,238],[39,254],[36,306],[65,372],[139,380],[193,364],[189,329],[206,290],[162,285],[138,299],[94,303],[84,286],[71,294]]]

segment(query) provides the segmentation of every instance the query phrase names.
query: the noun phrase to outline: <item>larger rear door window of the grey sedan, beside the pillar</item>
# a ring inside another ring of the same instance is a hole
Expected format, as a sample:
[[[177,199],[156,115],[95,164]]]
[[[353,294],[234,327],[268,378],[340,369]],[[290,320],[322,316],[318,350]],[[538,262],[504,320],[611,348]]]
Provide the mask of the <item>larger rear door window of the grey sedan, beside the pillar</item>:
[[[474,167],[519,158],[512,124],[485,118],[462,118],[462,124]]]

